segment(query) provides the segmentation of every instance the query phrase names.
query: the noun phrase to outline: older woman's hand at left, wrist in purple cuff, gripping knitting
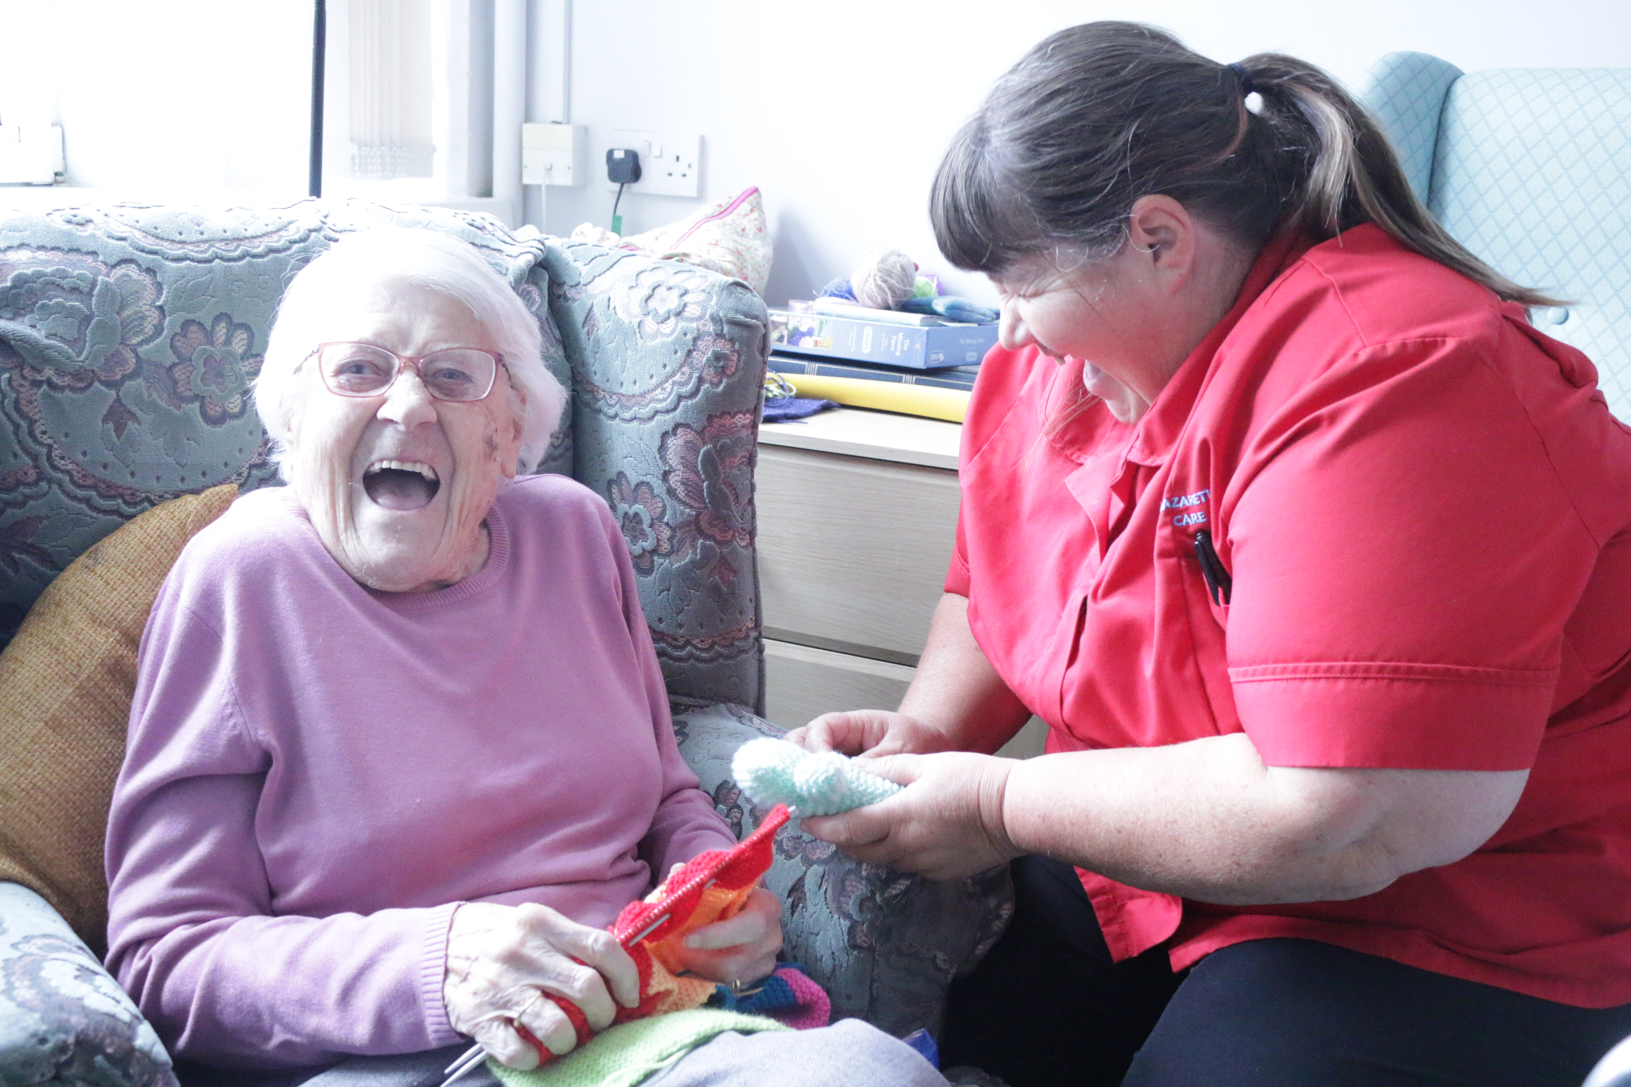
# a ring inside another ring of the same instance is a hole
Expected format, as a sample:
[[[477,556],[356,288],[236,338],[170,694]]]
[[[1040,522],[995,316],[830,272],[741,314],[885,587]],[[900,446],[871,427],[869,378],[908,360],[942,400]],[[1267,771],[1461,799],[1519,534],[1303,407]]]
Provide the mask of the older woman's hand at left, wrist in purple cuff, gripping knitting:
[[[548,906],[463,903],[453,911],[442,981],[453,1030],[480,1041],[502,1064],[537,1067],[538,1053],[515,1033],[514,1022],[555,1054],[577,1045],[572,1022],[543,999],[545,992],[566,997],[590,1027],[605,1030],[617,1014],[613,996],[625,1007],[639,1004],[639,971],[610,932]]]

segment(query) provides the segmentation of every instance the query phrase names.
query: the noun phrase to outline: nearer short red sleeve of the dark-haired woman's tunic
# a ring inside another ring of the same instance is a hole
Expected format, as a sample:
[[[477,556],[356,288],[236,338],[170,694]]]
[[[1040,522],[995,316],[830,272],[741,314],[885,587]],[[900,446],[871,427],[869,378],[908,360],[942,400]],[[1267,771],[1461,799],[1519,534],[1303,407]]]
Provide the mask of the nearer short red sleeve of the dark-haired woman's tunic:
[[[1231,689],[1269,764],[1532,766],[1598,549],[1535,411],[1487,350],[1386,344],[1246,453],[1220,556]]]

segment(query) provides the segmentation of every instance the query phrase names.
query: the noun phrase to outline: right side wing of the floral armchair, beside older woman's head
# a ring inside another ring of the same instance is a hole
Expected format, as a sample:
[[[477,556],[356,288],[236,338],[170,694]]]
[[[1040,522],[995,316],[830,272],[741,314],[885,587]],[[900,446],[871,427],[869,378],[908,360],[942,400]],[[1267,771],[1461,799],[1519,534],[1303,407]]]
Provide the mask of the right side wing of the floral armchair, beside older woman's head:
[[[550,238],[572,474],[623,528],[669,696],[763,706],[754,463],[768,319],[747,285]]]

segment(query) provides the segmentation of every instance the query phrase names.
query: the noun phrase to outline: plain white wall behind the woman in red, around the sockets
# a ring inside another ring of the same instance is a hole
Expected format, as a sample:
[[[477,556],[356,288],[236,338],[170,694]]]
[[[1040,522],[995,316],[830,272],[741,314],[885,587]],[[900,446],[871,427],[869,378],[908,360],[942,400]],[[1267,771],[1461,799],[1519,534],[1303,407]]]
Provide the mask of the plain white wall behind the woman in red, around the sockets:
[[[1288,52],[1349,83],[1396,49],[1465,70],[1631,67],[1626,0],[577,0],[571,119],[590,129],[592,168],[613,127],[701,132],[705,200],[760,186],[773,305],[873,248],[944,274],[925,210],[941,150],[1029,46],[1098,18],[1165,26],[1218,60]],[[625,230],[698,204],[625,196]],[[602,184],[553,186],[543,225],[607,227],[610,209]],[[990,297],[983,277],[944,277]]]

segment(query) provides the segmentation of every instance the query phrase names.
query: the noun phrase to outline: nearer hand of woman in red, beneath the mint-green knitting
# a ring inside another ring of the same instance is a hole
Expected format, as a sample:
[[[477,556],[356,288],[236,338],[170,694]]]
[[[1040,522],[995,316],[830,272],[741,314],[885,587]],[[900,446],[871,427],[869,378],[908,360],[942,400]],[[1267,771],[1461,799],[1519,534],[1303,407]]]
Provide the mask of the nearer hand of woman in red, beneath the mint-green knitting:
[[[1003,828],[1013,766],[1014,759],[962,751],[877,758],[866,769],[905,789],[843,815],[806,816],[802,828],[866,864],[931,880],[985,872],[1021,854]]]

